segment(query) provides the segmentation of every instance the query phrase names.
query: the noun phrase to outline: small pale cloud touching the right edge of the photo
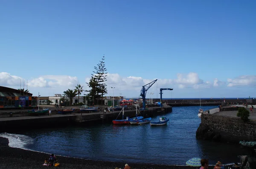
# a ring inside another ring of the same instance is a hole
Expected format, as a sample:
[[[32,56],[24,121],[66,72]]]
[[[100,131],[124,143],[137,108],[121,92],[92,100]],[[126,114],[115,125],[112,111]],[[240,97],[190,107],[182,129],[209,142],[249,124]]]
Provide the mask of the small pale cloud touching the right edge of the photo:
[[[256,75],[243,75],[238,76],[234,79],[227,79],[228,87],[234,86],[255,86],[256,85]]]

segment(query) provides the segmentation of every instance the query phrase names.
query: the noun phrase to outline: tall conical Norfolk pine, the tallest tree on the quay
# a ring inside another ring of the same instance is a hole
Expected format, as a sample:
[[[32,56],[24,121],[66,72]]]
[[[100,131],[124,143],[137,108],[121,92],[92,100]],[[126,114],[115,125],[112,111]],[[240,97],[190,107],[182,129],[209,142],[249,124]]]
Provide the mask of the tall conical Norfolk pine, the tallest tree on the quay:
[[[94,74],[91,74],[90,82],[86,83],[91,88],[90,90],[85,90],[89,92],[87,96],[92,98],[93,103],[97,100],[97,104],[99,104],[99,100],[102,100],[103,96],[108,93],[107,85],[104,83],[107,81],[107,69],[105,68],[104,60],[105,56],[102,57],[102,60],[99,61],[97,66],[94,66],[96,71],[93,71]]]

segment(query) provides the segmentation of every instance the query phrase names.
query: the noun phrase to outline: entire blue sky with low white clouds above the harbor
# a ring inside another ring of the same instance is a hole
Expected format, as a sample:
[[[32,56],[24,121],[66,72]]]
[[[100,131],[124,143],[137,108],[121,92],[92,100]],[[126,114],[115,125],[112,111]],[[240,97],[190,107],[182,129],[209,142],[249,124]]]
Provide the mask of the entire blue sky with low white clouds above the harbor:
[[[255,97],[255,8],[252,0],[3,0],[0,85],[25,79],[41,96],[86,89],[105,54],[117,95],[138,97],[158,79],[152,97],[162,87],[174,88],[165,98]]]

